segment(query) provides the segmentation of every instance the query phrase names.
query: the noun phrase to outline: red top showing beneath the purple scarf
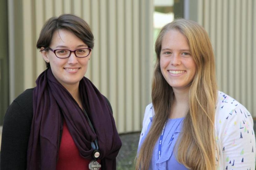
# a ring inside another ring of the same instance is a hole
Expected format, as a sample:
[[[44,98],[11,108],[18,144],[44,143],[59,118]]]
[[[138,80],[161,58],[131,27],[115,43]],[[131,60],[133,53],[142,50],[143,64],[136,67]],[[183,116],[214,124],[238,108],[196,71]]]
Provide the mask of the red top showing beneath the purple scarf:
[[[79,150],[76,147],[72,136],[70,135],[65,120],[63,123],[61,146],[58,156],[59,159],[57,162],[56,170],[89,170],[90,160],[84,159],[80,156]],[[98,162],[100,163],[99,160]]]

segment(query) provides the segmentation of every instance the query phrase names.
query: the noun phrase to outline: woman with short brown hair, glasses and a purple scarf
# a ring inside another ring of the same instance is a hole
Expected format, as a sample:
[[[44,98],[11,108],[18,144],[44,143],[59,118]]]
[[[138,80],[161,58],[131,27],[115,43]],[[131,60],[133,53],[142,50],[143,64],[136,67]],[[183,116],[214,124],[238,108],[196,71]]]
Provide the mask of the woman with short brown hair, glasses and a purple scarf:
[[[1,170],[116,169],[121,147],[107,98],[84,77],[94,37],[72,14],[50,18],[37,42],[47,69],[9,106]]]

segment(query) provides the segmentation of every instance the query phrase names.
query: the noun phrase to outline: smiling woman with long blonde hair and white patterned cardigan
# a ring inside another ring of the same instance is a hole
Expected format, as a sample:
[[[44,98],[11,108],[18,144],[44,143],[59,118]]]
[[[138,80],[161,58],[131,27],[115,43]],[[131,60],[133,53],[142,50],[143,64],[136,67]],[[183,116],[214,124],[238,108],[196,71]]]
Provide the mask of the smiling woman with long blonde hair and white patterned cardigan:
[[[160,31],[155,52],[136,169],[255,169],[252,116],[217,90],[205,29],[174,20]]]

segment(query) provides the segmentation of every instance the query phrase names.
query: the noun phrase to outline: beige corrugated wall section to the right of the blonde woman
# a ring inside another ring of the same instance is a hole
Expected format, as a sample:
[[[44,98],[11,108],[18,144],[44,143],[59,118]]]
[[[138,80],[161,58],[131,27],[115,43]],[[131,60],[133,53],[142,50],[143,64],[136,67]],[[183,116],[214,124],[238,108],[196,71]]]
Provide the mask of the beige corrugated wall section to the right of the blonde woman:
[[[256,117],[256,1],[197,3],[197,22],[212,40],[219,89]]]

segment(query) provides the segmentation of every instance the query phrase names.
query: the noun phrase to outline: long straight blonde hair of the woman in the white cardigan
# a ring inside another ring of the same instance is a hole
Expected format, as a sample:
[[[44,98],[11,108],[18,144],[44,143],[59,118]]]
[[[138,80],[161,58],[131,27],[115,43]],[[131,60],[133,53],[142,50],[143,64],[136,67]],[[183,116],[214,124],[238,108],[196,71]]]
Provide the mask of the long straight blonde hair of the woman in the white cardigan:
[[[162,39],[169,30],[178,30],[187,38],[191,56],[196,63],[195,77],[189,90],[189,111],[183,120],[183,130],[175,145],[175,155],[177,161],[187,168],[214,170],[214,120],[217,100],[214,54],[205,29],[196,22],[185,19],[177,19],[165,25],[155,43],[157,60],[152,82],[155,115],[138,153],[136,169],[149,168],[154,145],[171,111],[173,90],[160,70]]]

